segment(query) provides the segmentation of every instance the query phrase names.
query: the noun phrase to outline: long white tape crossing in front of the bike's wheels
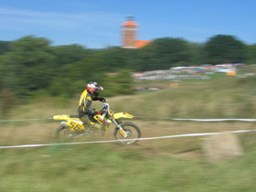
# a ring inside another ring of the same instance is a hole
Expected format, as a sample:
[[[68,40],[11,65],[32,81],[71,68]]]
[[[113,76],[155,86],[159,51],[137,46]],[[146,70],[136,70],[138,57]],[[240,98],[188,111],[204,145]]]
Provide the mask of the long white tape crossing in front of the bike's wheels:
[[[247,132],[255,132],[256,129],[253,130],[238,130],[238,131],[230,131],[229,133],[247,133]],[[175,135],[166,135],[166,136],[157,136],[157,137],[147,137],[147,138],[139,138],[135,139],[138,141],[144,140],[155,140],[155,139],[167,139],[167,138],[177,138],[177,137],[190,137],[190,136],[207,136],[219,133],[187,133],[187,134],[175,134]],[[59,143],[59,144],[22,144],[22,145],[10,145],[10,146],[0,146],[0,149],[9,149],[9,148],[28,148],[28,147],[38,147],[38,146],[54,146],[54,145],[71,145],[71,144],[104,144],[104,143],[114,143],[120,141],[133,141],[134,139],[123,139],[123,140],[105,140],[105,141],[94,141],[94,142],[76,142],[76,143]]]

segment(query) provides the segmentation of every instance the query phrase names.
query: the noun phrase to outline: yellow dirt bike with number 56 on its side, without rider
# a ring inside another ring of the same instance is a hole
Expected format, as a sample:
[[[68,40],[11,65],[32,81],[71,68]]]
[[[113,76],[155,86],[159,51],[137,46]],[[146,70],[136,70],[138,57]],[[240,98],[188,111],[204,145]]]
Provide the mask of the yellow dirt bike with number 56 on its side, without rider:
[[[60,114],[53,116],[54,120],[62,120],[56,131],[56,138],[68,139],[78,137],[91,137],[104,135],[109,130],[110,124],[115,124],[113,136],[123,144],[134,144],[141,137],[140,128],[134,123],[123,123],[121,119],[132,119],[128,112],[114,113],[107,102],[103,102],[101,114],[93,116],[95,123],[84,124],[78,115]]]

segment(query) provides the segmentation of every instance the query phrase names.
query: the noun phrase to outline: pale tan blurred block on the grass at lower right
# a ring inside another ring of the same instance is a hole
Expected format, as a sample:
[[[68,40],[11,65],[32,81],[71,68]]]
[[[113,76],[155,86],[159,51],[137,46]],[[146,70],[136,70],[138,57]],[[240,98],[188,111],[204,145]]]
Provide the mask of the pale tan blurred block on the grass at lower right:
[[[209,162],[227,161],[243,154],[237,135],[228,132],[210,135],[203,151]]]

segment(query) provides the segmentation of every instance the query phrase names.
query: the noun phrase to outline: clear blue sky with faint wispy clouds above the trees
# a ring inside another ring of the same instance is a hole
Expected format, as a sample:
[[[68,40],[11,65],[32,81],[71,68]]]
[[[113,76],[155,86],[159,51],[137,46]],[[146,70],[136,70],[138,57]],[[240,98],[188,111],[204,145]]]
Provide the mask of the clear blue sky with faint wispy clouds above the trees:
[[[256,43],[254,0],[0,0],[0,40],[45,37],[52,46],[121,45],[126,16],[138,39],[181,37],[207,42],[222,34]]]

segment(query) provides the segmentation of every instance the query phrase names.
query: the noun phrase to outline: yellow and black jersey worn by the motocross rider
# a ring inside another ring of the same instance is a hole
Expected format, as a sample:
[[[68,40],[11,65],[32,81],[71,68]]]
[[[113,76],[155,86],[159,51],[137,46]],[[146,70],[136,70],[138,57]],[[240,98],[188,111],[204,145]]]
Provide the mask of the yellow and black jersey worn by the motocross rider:
[[[79,113],[92,115],[94,110],[91,109],[91,101],[98,100],[98,97],[91,95],[91,92],[85,90],[80,95],[80,103],[79,103]]]

